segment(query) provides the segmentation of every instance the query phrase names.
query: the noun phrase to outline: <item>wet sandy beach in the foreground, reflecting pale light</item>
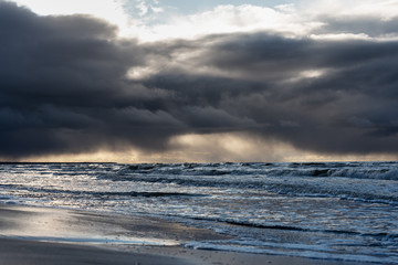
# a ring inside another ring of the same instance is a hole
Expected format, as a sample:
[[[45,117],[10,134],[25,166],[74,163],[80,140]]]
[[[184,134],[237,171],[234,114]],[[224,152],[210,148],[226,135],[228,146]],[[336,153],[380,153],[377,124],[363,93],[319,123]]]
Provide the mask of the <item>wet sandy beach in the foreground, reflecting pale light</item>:
[[[0,204],[0,264],[358,264],[180,246],[224,237],[151,216]]]

